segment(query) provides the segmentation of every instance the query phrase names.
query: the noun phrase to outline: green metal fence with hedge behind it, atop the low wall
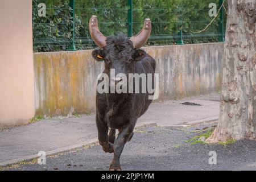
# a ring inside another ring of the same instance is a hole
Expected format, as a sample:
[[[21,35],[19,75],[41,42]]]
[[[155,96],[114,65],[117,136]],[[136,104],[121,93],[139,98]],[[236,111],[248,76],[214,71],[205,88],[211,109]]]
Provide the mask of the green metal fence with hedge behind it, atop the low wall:
[[[145,18],[152,31],[147,45],[169,45],[223,42],[226,14],[222,6],[214,21],[209,3],[217,10],[224,0],[33,0],[32,24],[35,52],[90,49],[96,47],[90,38],[88,22],[97,15],[105,36],[121,31],[137,34]],[[41,4],[40,4],[41,3]],[[42,6],[46,5],[46,9]],[[225,3],[224,3],[225,5]],[[45,10],[46,16],[39,15]]]

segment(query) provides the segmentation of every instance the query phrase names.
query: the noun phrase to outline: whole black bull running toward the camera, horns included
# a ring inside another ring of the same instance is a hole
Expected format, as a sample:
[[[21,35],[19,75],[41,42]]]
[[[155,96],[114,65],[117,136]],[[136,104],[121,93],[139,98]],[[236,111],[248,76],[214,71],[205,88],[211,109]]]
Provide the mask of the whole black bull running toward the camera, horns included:
[[[126,86],[126,88],[128,86],[128,93],[117,93],[114,89],[114,92],[97,92],[96,95],[98,140],[105,152],[114,152],[110,170],[121,170],[119,159],[123,147],[133,137],[137,119],[141,117],[152,102],[149,99],[151,96],[148,88],[155,86],[155,60],[140,49],[150,36],[151,21],[146,18],[141,32],[131,38],[127,38],[122,33],[106,38],[98,29],[97,16],[93,15],[89,22],[89,31],[93,41],[98,47],[102,48],[94,50],[92,56],[97,61],[104,61],[105,69],[103,73],[109,78],[108,81],[106,81],[107,79],[105,80],[104,87],[109,88],[113,87],[113,85],[120,85],[125,80],[127,81],[127,77],[129,78],[132,73],[137,73],[137,75],[144,74],[147,79],[147,81],[142,79],[145,81],[143,83],[137,80],[139,82],[139,92],[134,92],[136,89],[134,85],[138,85],[138,83],[131,84],[131,80],[128,79],[127,84],[122,85]],[[115,75],[111,74],[112,70],[115,71]],[[151,74],[151,77],[148,74]],[[120,75],[122,76],[120,77]],[[148,80],[151,81],[151,87],[147,85],[149,83]],[[98,85],[102,85],[102,81],[104,80],[98,81]],[[130,92],[130,86],[133,86],[133,92]],[[144,89],[143,92],[142,87]],[[145,87],[147,88],[146,92],[144,92]],[[138,90],[136,89],[136,91]],[[119,132],[115,139],[116,129]]]

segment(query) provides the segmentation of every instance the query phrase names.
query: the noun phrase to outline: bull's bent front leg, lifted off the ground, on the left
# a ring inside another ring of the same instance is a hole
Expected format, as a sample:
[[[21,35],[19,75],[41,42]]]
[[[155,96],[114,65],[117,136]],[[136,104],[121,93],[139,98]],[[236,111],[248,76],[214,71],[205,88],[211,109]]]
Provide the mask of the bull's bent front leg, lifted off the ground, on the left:
[[[105,152],[112,153],[113,144],[110,143],[108,139],[109,127],[107,123],[104,122],[104,118],[100,117],[100,114],[96,114],[96,125],[98,130],[98,142]]]

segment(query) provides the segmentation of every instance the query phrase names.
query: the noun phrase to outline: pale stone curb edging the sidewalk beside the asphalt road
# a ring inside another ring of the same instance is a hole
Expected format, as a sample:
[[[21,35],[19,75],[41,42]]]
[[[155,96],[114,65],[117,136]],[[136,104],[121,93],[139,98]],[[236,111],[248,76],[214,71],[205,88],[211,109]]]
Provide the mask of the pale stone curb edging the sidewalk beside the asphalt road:
[[[156,122],[143,122],[143,123],[138,123],[138,125],[136,125],[134,129],[138,130],[138,129],[142,129],[144,127],[154,127],[154,126],[157,126]],[[55,150],[46,151],[46,155],[58,154],[60,152],[70,151],[70,150],[74,150],[74,149],[82,147],[82,146],[96,144],[96,143],[98,143],[98,138],[93,138],[93,139],[87,140],[85,142],[79,142],[77,144],[73,144],[71,146],[61,147],[61,148],[57,148]],[[31,160],[31,159],[38,158],[38,157],[39,157],[38,154],[27,155],[27,156],[23,156],[21,158],[7,160],[5,162],[0,162],[0,166],[4,167],[9,164],[15,164],[15,163],[19,163],[23,160]]]

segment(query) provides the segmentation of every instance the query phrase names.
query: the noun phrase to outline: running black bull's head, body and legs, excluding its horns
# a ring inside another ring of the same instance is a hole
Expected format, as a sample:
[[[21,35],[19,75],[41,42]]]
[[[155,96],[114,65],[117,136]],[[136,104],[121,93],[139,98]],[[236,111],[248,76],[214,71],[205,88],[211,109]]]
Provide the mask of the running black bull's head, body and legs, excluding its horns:
[[[152,83],[154,84],[155,60],[142,49],[134,49],[131,40],[123,34],[106,38],[106,46],[103,49],[94,50],[92,56],[97,61],[104,61],[105,69],[103,73],[106,73],[109,77],[110,69],[115,70],[115,75],[118,73],[124,73],[125,75],[129,73],[145,73],[146,75],[151,73]],[[117,81],[115,81],[116,83]],[[142,82],[139,82],[139,84],[141,88]],[[148,95],[148,92],[119,94],[97,92],[96,124],[98,140],[105,152],[114,152],[110,170],[121,170],[119,159],[123,147],[133,137],[137,119],[141,117],[152,102],[152,100],[148,100]],[[117,138],[115,138],[115,129],[119,131]]]

